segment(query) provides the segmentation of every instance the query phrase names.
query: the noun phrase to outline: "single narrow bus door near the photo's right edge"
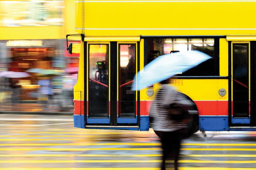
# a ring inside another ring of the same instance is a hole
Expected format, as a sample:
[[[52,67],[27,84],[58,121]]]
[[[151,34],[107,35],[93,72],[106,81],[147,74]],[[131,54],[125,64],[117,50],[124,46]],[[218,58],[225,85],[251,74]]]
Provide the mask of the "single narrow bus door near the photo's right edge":
[[[231,123],[251,123],[250,41],[231,41]]]

